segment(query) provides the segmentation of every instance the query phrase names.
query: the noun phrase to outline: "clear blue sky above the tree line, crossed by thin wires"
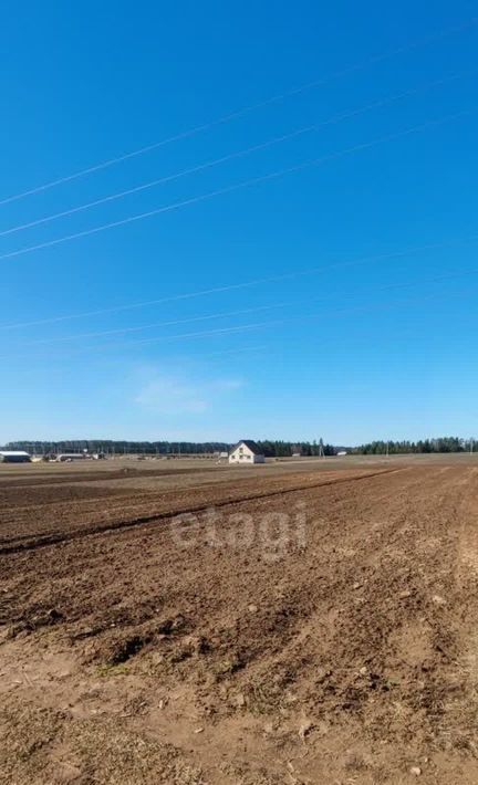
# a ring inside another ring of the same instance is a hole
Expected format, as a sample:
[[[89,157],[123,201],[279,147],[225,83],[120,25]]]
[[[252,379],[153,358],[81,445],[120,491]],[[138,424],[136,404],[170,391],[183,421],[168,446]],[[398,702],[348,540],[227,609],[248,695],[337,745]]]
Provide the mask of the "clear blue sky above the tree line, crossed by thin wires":
[[[474,15],[10,7],[0,442],[478,436]]]

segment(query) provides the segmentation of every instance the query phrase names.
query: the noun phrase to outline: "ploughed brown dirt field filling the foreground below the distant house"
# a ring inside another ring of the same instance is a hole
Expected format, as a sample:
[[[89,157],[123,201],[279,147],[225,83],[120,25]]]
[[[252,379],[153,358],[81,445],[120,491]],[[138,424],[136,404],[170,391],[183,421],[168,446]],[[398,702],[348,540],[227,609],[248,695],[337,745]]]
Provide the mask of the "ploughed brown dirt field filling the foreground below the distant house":
[[[474,462],[48,477],[0,482],[1,782],[478,782]]]

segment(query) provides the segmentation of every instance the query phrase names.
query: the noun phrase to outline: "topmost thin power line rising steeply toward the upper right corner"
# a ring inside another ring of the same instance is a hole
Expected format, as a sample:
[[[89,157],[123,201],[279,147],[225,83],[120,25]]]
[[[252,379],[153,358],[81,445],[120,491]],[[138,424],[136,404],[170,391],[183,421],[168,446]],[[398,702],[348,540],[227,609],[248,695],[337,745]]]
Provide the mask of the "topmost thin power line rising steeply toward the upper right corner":
[[[402,46],[398,46],[396,49],[388,50],[388,51],[383,52],[377,55],[373,55],[372,57],[368,57],[366,60],[354,63],[353,65],[349,65],[345,69],[334,71],[331,74],[322,76],[319,80],[314,80],[313,82],[308,82],[305,84],[300,85],[299,87],[293,87],[292,90],[285,91],[279,95],[273,95],[269,98],[266,98],[264,101],[256,102],[253,104],[250,104],[249,106],[245,106],[240,109],[237,109],[237,111],[231,112],[227,115],[224,115],[222,117],[219,117],[217,119],[194,126],[194,127],[191,127],[187,130],[184,130],[179,134],[175,134],[174,136],[166,137],[165,139],[162,139],[159,142],[155,142],[155,143],[153,143],[150,145],[146,145],[144,147],[139,147],[138,149],[132,150],[129,153],[125,153],[124,155],[117,156],[115,158],[110,158],[110,159],[104,160],[100,164],[95,164],[95,165],[86,167],[84,169],[80,169],[79,171],[75,171],[71,175],[66,175],[64,177],[60,177],[58,179],[50,180],[49,182],[45,182],[41,186],[37,186],[34,188],[30,188],[30,189],[22,191],[20,193],[15,193],[13,196],[6,197],[4,199],[0,200],[0,206],[8,205],[12,201],[18,201],[19,199],[23,199],[24,197],[32,196],[32,195],[39,193],[41,191],[45,191],[50,188],[63,185],[65,182],[71,182],[72,180],[75,180],[80,177],[85,177],[85,176],[91,175],[95,171],[100,171],[101,169],[106,169],[106,168],[114,166],[116,164],[121,164],[122,161],[144,155],[145,153],[150,153],[152,150],[158,149],[159,147],[164,147],[165,145],[172,144],[174,142],[179,142],[181,139],[186,139],[186,138],[195,136],[201,132],[209,130],[216,126],[224,125],[225,123],[229,123],[230,121],[241,117],[243,115],[247,115],[250,112],[254,112],[254,111],[263,108],[266,106],[270,106],[271,104],[278,103],[280,101],[292,97],[294,95],[300,95],[301,93],[304,93],[309,90],[320,87],[323,84],[326,84],[328,82],[330,82],[332,80],[340,78],[341,76],[346,76],[349,74],[362,71],[363,69],[365,69],[370,65],[374,65],[375,63],[383,62],[385,60],[388,60],[389,57],[394,57],[398,54],[403,54],[404,52],[408,52],[411,50],[414,50],[414,49],[417,49],[420,46],[425,46],[429,43],[433,43],[434,41],[440,41],[441,39],[453,35],[455,33],[460,33],[460,32],[464,32],[465,30],[469,30],[469,29],[474,28],[477,24],[477,22],[478,22],[478,17],[472,17],[472,18],[466,20],[465,22],[463,22],[461,24],[446,28],[445,30],[440,30],[436,33],[430,33],[429,35],[427,35],[425,38],[418,39],[416,41],[412,41],[411,43],[407,43],[407,44],[403,44]]]

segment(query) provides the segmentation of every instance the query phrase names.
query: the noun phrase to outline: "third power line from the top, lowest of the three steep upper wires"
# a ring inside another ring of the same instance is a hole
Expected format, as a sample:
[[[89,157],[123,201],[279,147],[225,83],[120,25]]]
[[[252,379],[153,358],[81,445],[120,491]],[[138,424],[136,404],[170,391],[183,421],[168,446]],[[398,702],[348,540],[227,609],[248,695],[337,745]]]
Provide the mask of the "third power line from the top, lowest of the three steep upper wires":
[[[461,112],[457,112],[457,113],[454,113],[450,115],[445,115],[444,117],[440,117],[438,119],[427,121],[426,123],[422,123],[419,125],[412,126],[409,128],[406,128],[405,130],[396,132],[393,134],[387,134],[386,136],[381,136],[376,139],[373,139],[372,142],[364,142],[364,143],[361,143],[357,145],[353,145],[352,147],[346,147],[343,150],[339,150],[336,153],[331,153],[330,155],[326,155],[326,156],[313,158],[311,160],[304,161],[303,164],[298,164],[295,166],[287,167],[284,169],[278,169],[276,171],[269,172],[268,175],[260,175],[259,177],[252,177],[247,180],[236,182],[231,186],[227,186],[226,188],[219,188],[217,190],[209,191],[207,193],[201,193],[196,197],[190,197],[189,199],[184,199],[181,201],[172,202],[169,205],[165,205],[164,207],[159,207],[154,210],[148,210],[146,212],[141,212],[141,213],[137,213],[134,216],[129,216],[127,218],[123,218],[118,221],[111,221],[110,223],[103,223],[98,227],[94,227],[93,229],[86,229],[81,232],[74,232],[73,234],[66,234],[62,238],[58,238],[56,240],[48,240],[46,242],[41,242],[41,243],[38,243],[37,245],[28,245],[27,248],[21,248],[17,251],[10,251],[9,253],[2,253],[2,254],[0,254],[0,260],[11,259],[13,257],[20,257],[20,255],[23,255],[24,253],[31,253],[32,251],[39,251],[44,248],[52,248],[53,245],[58,245],[63,242],[69,242],[71,240],[77,240],[80,238],[90,237],[91,234],[97,234],[98,232],[105,231],[107,229],[114,229],[117,227],[122,227],[127,223],[133,223],[135,221],[144,220],[145,218],[152,218],[153,216],[158,216],[160,213],[172,212],[173,210],[178,210],[181,207],[187,207],[189,205],[196,205],[198,202],[206,201],[207,199],[212,199],[214,197],[217,197],[217,196],[232,193],[233,191],[240,190],[242,188],[248,188],[249,186],[253,186],[253,185],[258,185],[260,182],[273,180],[279,177],[283,177],[284,175],[291,175],[291,174],[294,174],[298,171],[303,171],[304,169],[308,169],[308,168],[311,168],[314,166],[320,166],[321,164],[325,164],[330,160],[334,160],[336,158],[342,158],[343,156],[351,155],[351,154],[357,153],[360,150],[370,149],[370,148],[375,147],[376,145],[380,145],[384,142],[392,142],[393,139],[398,139],[404,136],[409,136],[411,134],[418,133],[420,130],[424,130],[425,128],[440,125],[443,123],[448,123],[453,119],[457,119],[458,117],[463,117],[465,115],[468,115],[475,109],[476,109],[476,107],[472,107],[469,109],[463,109]]]

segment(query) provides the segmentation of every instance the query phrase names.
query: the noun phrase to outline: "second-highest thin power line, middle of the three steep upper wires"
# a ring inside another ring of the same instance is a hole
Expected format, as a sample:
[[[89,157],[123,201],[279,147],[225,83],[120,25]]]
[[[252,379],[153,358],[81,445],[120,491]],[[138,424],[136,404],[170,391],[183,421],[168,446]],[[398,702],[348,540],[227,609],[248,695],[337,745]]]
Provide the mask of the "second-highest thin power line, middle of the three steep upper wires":
[[[394,103],[395,101],[399,101],[402,98],[409,97],[412,95],[416,95],[417,93],[424,91],[424,90],[429,90],[433,87],[437,87],[444,84],[447,84],[449,82],[455,82],[460,78],[466,78],[467,76],[476,75],[477,70],[475,69],[474,71],[467,71],[464,73],[459,74],[451,74],[449,76],[445,76],[444,78],[439,80],[434,80],[432,82],[426,82],[425,84],[418,85],[417,87],[412,87],[411,90],[402,91],[401,93],[395,93],[394,95],[386,96],[385,98],[381,98],[378,101],[375,101],[371,104],[365,104],[364,106],[360,106],[355,109],[347,109],[346,112],[341,112],[337,115],[333,115],[332,117],[321,121],[320,123],[314,123],[312,125],[303,126],[301,128],[295,128],[294,130],[288,133],[288,134],[282,134],[281,136],[276,136],[272,137],[271,139],[267,139],[266,142],[259,143],[257,145],[252,145],[250,147],[243,148],[241,150],[235,150],[232,153],[229,153],[225,156],[221,156],[219,158],[214,158],[211,160],[205,161],[204,164],[199,164],[194,167],[189,167],[186,169],[181,169],[179,171],[176,171],[172,175],[166,175],[160,178],[156,178],[154,180],[149,180],[148,182],[144,182],[139,186],[135,186],[134,188],[128,188],[123,191],[117,191],[115,193],[111,193],[106,197],[102,197],[100,199],[94,199],[93,201],[85,202],[83,205],[79,205],[76,207],[72,207],[67,210],[62,210],[60,212],[52,213],[50,216],[44,216],[43,218],[38,218],[34,221],[29,221],[28,223],[21,223],[15,227],[11,227],[10,229],[4,229],[3,231],[0,231],[0,237],[6,237],[8,234],[13,234],[14,232],[23,231],[25,229],[32,229],[33,227],[38,227],[44,223],[50,223],[51,221],[55,221],[59,218],[66,218],[69,216],[73,216],[77,212],[84,212],[85,210],[89,210],[93,207],[98,207],[100,205],[105,205],[111,201],[116,201],[117,199],[123,199],[124,197],[132,196],[133,193],[139,193],[141,191],[147,190],[149,188],[154,188],[160,185],[165,185],[166,182],[172,182],[173,180],[177,180],[181,177],[186,177],[188,175],[194,175],[199,171],[204,171],[205,169],[210,169],[215,166],[219,166],[220,164],[226,164],[229,160],[233,160],[235,158],[240,158],[247,155],[250,155],[252,153],[258,153],[259,150],[267,149],[268,147],[272,147],[273,145],[281,144],[283,142],[288,142],[290,139],[297,138],[298,136],[303,136],[304,134],[310,134],[314,130],[319,130],[320,128],[324,128],[329,125],[335,125],[337,123],[341,123],[345,119],[350,119],[351,117],[356,117],[358,115],[365,114],[366,112],[371,112],[372,109],[380,108],[382,106],[386,106],[391,103]]]

